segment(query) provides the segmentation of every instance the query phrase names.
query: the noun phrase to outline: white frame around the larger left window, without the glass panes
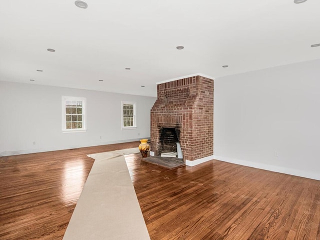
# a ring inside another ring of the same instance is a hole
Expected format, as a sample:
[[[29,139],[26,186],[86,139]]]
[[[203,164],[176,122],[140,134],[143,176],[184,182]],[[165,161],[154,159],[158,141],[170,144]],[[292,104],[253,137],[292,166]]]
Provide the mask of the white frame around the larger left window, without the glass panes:
[[[82,101],[82,128],[66,128],[66,112],[65,112],[65,101]],[[84,132],[86,131],[86,98],[76,96],[62,96],[61,99],[62,109],[62,132]]]

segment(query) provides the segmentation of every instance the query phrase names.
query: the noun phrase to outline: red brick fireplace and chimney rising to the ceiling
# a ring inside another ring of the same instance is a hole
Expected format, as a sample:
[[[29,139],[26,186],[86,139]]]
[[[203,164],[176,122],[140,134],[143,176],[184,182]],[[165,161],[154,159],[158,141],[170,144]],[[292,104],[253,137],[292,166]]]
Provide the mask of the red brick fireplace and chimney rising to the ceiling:
[[[177,133],[184,161],[213,155],[213,79],[196,75],[157,85],[157,100],[151,108],[154,155],[164,152],[163,131]],[[171,145],[174,151],[172,140],[167,147]]]

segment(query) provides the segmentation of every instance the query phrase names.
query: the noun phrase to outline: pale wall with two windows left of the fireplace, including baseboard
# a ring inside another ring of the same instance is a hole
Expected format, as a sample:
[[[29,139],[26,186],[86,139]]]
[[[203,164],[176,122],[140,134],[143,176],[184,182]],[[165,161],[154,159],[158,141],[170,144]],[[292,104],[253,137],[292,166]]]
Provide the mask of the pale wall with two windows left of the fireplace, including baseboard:
[[[62,133],[62,95],[86,97],[86,132]],[[150,109],[155,99],[0,81],[0,155],[69,149],[150,137]],[[136,129],[121,130],[121,101],[136,102]]]

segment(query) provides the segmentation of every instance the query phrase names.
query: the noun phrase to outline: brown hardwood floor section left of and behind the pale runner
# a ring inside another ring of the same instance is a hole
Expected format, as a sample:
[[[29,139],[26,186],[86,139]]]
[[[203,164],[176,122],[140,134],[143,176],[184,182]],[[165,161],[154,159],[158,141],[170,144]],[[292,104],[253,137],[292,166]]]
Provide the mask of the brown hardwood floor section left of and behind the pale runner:
[[[86,154],[137,145],[0,157],[0,239],[62,239],[94,161]]]

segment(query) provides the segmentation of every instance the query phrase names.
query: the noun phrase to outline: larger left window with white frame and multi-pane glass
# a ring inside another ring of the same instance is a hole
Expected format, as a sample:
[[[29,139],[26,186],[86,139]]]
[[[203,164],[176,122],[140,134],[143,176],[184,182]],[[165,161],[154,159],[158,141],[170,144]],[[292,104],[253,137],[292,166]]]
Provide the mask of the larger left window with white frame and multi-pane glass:
[[[84,97],[62,96],[62,131],[85,131]]]

